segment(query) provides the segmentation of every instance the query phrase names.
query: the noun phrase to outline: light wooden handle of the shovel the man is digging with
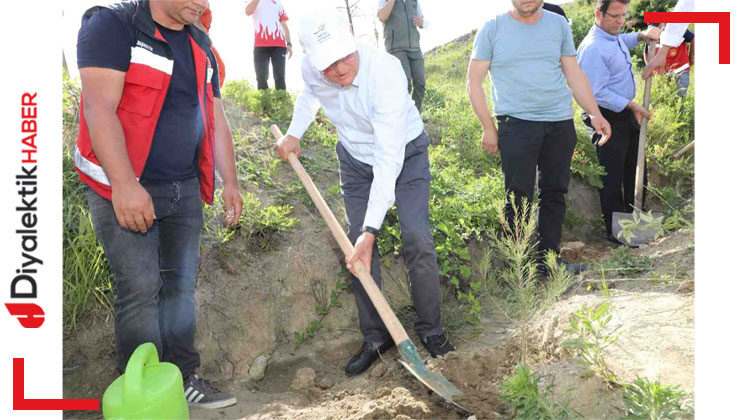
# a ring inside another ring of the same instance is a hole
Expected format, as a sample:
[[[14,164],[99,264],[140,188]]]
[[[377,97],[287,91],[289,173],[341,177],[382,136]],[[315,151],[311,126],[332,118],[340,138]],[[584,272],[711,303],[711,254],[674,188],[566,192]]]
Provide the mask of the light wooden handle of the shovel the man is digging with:
[[[270,126],[270,132],[275,137],[275,139],[280,139],[283,137],[283,133],[274,124]],[[288,155],[288,161],[290,162],[290,166],[293,167],[293,170],[298,175],[298,178],[303,183],[303,186],[306,187],[308,195],[311,196],[314,204],[316,204],[316,207],[319,209],[321,217],[323,217],[326,224],[329,225],[329,229],[331,229],[331,234],[334,236],[334,239],[339,244],[339,247],[342,248],[342,252],[344,252],[344,255],[352,255],[352,252],[354,251],[354,246],[352,245],[352,242],[350,242],[349,238],[344,233],[344,230],[339,225],[336,217],[334,217],[334,213],[332,213],[329,209],[329,206],[326,205],[326,201],[324,201],[324,198],[321,196],[318,188],[316,188],[316,185],[314,185],[311,177],[308,175],[308,173],[306,173],[306,170],[303,169],[303,165],[301,165],[301,162],[293,153],[290,153]],[[375,306],[375,309],[378,311],[378,314],[383,320],[385,327],[388,329],[391,337],[393,337],[393,341],[395,341],[396,344],[399,344],[404,340],[408,340],[409,336],[408,334],[406,334],[406,330],[404,330],[401,322],[398,321],[398,318],[393,313],[390,305],[388,305],[388,301],[385,300],[383,293],[378,288],[378,285],[375,284],[375,280],[373,280],[372,276],[370,275],[370,271],[367,267],[365,267],[365,264],[360,261],[355,261],[352,265],[352,269],[357,274],[357,278],[360,279],[362,287],[365,288],[367,295],[370,297],[370,301],[372,301],[373,306]]]

